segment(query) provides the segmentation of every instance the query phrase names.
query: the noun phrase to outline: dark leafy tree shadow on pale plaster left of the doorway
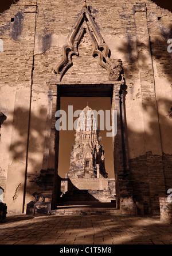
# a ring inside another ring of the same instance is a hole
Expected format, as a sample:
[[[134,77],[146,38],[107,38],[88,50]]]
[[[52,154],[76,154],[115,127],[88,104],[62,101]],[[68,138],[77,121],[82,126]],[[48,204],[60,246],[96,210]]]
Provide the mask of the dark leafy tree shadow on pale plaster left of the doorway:
[[[15,137],[11,138],[10,152],[12,159],[26,159],[26,151],[28,150],[28,143],[34,142],[32,146],[32,155],[29,155],[30,164],[32,164],[32,168],[36,170],[37,168],[37,160],[35,158],[34,153],[39,153],[44,148],[44,133],[45,133],[45,123],[44,119],[47,115],[47,110],[42,108],[38,111],[38,114],[31,114],[31,122],[32,127],[30,127],[29,133],[29,141],[28,141],[28,122],[29,122],[29,110],[26,110],[24,107],[15,108],[14,114],[10,113],[10,115],[14,115],[13,122],[7,120],[3,126],[13,126],[13,133]],[[16,139],[17,138],[17,139]],[[38,148],[36,145],[42,141],[41,148]],[[35,146],[34,146],[35,145]]]

